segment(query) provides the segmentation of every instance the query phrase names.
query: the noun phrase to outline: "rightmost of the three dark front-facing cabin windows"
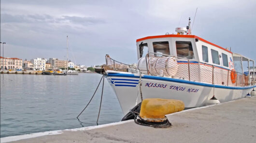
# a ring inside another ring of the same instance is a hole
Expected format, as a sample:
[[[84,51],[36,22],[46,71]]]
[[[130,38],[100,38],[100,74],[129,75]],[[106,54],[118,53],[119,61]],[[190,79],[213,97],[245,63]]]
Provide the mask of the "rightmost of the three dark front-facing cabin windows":
[[[176,41],[177,57],[195,59],[190,41]]]

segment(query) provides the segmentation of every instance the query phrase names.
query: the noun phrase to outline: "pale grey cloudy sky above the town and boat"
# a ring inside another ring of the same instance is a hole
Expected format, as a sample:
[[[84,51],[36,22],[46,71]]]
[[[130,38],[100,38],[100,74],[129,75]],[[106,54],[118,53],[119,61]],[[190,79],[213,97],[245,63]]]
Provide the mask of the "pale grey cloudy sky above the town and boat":
[[[4,57],[69,59],[102,65],[105,55],[137,62],[136,39],[175,33],[192,23],[192,34],[256,60],[255,0],[0,0]],[[2,45],[1,45],[2,56]]]

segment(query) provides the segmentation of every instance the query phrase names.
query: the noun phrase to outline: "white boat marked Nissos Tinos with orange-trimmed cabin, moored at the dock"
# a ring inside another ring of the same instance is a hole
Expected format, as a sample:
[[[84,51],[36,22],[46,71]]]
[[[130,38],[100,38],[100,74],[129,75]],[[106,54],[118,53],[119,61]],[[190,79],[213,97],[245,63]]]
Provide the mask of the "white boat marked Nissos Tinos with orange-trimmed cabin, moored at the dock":
[[[243,69],[245,61],[250,67],[254,60],[192,35],[190,19],[175,31],[137,39],[136,68],[106,55],[98,72],[113,87],[124,114],[145,98],[179,99],[187,108],[202,107],[211,99],[223,103],[243,98],[256,87],[255,72],[244,74]]]

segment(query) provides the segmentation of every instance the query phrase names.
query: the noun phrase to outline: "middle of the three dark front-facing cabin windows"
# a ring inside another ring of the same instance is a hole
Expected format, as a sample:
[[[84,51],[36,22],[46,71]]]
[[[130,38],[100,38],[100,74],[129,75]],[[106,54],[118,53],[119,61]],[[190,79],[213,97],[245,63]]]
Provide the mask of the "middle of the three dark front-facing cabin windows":
[[[165,55],[170,55],[170,48],[169,48],[169,42],[168,41],[163,41],[163,42],[153,42],[153,48],[154,48],[154,53],[159,53],[155,54],[155,57],[163,57]]]

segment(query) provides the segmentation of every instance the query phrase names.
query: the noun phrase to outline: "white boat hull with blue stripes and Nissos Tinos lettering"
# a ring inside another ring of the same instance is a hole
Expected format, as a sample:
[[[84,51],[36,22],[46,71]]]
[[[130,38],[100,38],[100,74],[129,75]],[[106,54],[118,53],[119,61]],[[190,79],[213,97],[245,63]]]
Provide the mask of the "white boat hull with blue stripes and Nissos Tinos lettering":
[[[114,88],[123,113],[126,114],[141,102],[138,74],[108,73],[107,80]],[[221,102],[244,98],[256,86],[233,87],[197,83],[180,79],[157,76],[142,76],[142,98],[164,98],[182,100],[185,107],[205,106],[207,101],[215,97]]]

